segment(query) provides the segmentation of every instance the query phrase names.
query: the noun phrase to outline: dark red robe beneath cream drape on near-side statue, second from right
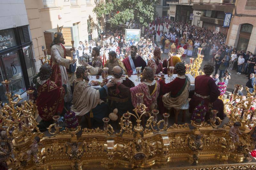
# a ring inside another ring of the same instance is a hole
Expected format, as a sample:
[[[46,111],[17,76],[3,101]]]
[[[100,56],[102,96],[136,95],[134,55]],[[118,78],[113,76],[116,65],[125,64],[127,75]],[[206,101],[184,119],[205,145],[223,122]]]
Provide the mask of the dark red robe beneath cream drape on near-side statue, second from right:
[[[159,89],[159,98],[158,98],[157,105],[158,105],[159,112],[161,114],[168,112],[168,110],[164,107],[164,104],[163,104],[163,100],[162,100],[163,96],[169,92],[171,92],[172,95],[176,95],[180,91],[180,89],[183,87],[185,81],[186,79],[175,78],[173,81],[166,84],[164,81],[159,80],[160,89]]]

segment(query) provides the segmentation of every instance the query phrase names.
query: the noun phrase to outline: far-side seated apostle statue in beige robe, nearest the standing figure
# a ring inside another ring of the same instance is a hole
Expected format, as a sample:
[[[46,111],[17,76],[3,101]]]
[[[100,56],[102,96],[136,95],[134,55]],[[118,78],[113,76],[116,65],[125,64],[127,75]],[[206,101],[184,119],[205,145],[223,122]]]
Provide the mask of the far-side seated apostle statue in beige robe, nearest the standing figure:
[[[81,61],[80,63],[85,67],[91,65],[91,75],[100,75],[100,70],[102,69],[102,61],[100,59],[100,50],[97,47],[92,48],[92,57],[92,63],[86,63],[84,61]]]

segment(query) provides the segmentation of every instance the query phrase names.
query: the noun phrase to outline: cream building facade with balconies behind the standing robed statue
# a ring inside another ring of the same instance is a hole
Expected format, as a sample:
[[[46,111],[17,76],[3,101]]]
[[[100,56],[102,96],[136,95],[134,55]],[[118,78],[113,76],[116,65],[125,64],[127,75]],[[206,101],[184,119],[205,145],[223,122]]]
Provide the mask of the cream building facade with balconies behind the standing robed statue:
[[[88,41],[89,33],[97,38],[102,27],[98,27],[97,16],[92,12],[96,6],[94,0],[24,0],[28,15],[28,22],[33,42],[33,53],[36,60],[36,70],[41,66],[39,58],[44,56],[42,49],[48,49],[51,54],[50,44],[57,25],[63,26],[62,33],[65,46],[71,46],[75,41],[75,47],[79,41]],[[97,27],[92,28],[92,23]]]

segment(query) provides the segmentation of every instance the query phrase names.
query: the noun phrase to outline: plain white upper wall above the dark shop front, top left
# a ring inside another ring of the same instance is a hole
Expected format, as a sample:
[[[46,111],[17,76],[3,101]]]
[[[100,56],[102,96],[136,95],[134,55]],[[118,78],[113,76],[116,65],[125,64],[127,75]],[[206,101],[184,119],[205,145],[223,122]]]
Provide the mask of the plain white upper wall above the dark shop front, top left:
[[[0,0],[0,30],[28,25],[24,0]]]

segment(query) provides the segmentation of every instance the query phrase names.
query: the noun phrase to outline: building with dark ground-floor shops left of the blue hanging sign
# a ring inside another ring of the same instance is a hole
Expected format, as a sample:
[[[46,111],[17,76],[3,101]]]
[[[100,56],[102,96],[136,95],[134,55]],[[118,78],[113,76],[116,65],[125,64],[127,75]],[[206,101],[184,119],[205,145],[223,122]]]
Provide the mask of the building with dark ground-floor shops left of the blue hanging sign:
[[[198,27],[227,34],[222,27],[225,13],[232,13],[233,0],[167,0],[172,20],[186,22]]]

